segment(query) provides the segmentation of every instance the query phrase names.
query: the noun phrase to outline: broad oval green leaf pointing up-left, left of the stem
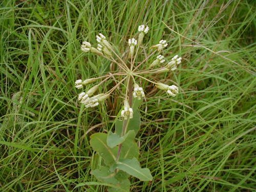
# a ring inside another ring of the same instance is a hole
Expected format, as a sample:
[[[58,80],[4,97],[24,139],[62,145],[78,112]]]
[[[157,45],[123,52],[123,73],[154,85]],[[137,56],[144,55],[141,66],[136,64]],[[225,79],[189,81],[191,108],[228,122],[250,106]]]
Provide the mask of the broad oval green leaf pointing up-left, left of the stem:
[[[106,164],[112,164],[116,160],[118,148],[110,148],[106,144],[107,134],[105,133],[95,133],[91,135],[90,144],[93,150],[98,152],[98,154],[104,159]]]

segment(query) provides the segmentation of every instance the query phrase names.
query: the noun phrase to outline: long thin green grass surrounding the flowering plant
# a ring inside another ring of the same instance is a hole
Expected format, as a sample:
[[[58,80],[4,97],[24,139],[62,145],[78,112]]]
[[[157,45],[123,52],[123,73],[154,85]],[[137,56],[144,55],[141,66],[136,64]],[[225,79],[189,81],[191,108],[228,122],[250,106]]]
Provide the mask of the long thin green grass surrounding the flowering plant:
[[[80,44],[103,32],[124,51],[144,23],[148,46],[163,36],[166,57],[183,58],[150,78],[181,93],[141,82],[140,161],[154,180],[132,178],[131,191],[255,190],[253,1],[4,0],[0,10],[0,191],[105,190],[90,174],[89,136],[111,129],[122,100],[81,108],[74,81],[110,63]]]

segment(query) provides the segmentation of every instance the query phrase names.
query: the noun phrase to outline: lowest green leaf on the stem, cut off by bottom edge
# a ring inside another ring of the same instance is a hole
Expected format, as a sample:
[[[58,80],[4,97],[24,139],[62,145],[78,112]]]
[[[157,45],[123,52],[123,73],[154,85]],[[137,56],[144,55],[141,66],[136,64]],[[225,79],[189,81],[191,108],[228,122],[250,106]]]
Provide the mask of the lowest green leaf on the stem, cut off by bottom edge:
[[[119,172],[122,172],[121,170]],[[115,187],[110,187],[109,191],[130,191],[130,181],[129,179],[120,178],[115,172],[111,172],[108,167],[101,166],[100,169],[92,170],[91,172],[97,180],[101,182],[106,182],[113,184]]]

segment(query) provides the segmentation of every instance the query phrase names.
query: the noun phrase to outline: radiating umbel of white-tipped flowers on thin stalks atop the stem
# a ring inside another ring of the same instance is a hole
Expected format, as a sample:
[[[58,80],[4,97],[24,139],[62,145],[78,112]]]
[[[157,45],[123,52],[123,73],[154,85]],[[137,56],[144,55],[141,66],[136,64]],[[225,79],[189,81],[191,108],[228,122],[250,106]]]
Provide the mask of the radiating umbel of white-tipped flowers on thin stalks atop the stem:
[[[112,92],[114,92],[118,87],[124,84],[126,91],[124,96],[123,109],[121,111],[120,116],[123,119],[129,119],[133,118],[133,109],[131,107],[132,96],[134,97],[134,99],[139,100],[145,98],[143,88],[139,86],[139,84],[137,83],[139,82],[138,79],[144,79],[148,82],[154,83],[158,89],[165,91],[170,96],[175,97],[179,93],[179,88],[175,85],[168,86],[167,84],[164,84],[162,82],[154,82],[145,77],[148,74],[157,74],[174,71],[175,69],[177,69],[177,66],[181,63],[181,57],[175,55],[169,62],[167,61],[167,65],[165,64],[165,66],[163,66],[163,63],[165,63],[166,60],[168,60],[163,55],[159,54],[163,51],[164,48],[168,46],[167,41],[163,39],[161,39],[157,45],[151,47],[153,49],[155,48],[155,51],[153,50],[153,52],[150,53],[149,56],[146,56],[146,58],[142,61],[138,61],[138,58],[141,58],[142,56],[139,57],[139,54],[137,53],[139,53],[139,49],[142,45],[144,35],[147,34],[149,30],[150,28],[146,25],[140,25],[138,27],[138,40],[136,40],[135,37],[128,40],[129,50],[125,52],[129,54],[127,55],[127,57],[125,53],[122,54],[122,56],[118,55],[118,53],[116,53],[112,49],[110,42],[106,40],[106,37],[101,33],[96,35],[97,48],[93,47],[90,42],[82,42],[81,50],[83,52],[91,52],[103,56],[106,59],[109,59],[112,62],[111,65],[117,65],[117,72],[112,71],[111,73],[107,73],[98,78],[76,80],[75,87],[77,89],[82,89],[84,87],[90,86],[91,83],[97,80],[101,80],[97,85],[88,89],[87,92],[81,92],[78,95],[78,101],[80,103],[84,104],[86,108],[93,108],[99,105],[101,101],[104,101],[105,99],[109,98]],[[154,55],[156,52],[158,52],[158,54],[155,56],[155,60],[151,62],[150,65],[148,65],[148,68],[145,68],[145,65],[143,64],[146,63],[148,59],[150,59],[150,57]],[[154,69],[155,67],[157,67],[157,69]],[[114,76],[119,76],[121,78],[115,78]],[[102,83],[108,82],[107,80],[110,81],[110,79],[121,80],[115,81],[115,86],[106,93],[94,95],[98,91],[99,86]]]

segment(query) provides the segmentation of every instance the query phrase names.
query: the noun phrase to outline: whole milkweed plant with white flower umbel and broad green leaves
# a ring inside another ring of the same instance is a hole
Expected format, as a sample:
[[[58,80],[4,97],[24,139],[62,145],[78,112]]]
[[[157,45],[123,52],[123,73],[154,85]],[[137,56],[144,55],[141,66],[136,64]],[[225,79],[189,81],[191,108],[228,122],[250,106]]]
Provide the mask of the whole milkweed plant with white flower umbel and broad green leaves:
[[[129,178],[131,176],[141,181],[153,180],[150,170],[140,166],[139,147],[135,140],[140,128],[139,106],[146,97],[139,82],[146,80],[153,83],[159,90],[165,91],[172,97],[179,92],[179,88],[174,84],[154,82],[147,78],[148,75],[174,71],[181,63],[181,57],[178,55],[175,55],[169,62],[166,61],[167,59],[162,54],[168,44],[163,39],[159,41],[159,44],[150,48],[150,54],[144,56],[142,53],[146,47],[142,44],[148,30],[146,25],[139,26],[136,35],[138,39],[129,39],[127,50],[123,54],[119,54],[101,33],[96,36],[97,48],[92,47],[87,41],[83,41],[81,45],[83,52],[91,52],[110,60],[111,69],[110,72],[100,77],[76,80],[75,87],[79,90],[91,87],[88,91],[78,95],[78,101],[85,108],[95,108],[117,90],[117,94],[123,99],[122,109],[115,120],[115,132],[95,133],[90,137],[90,145],[96,152],[92,159],[94,166],[92,166],[91,173],[97,180],[105,183],[110,192],[130,191]],[[140,58],[144,59],[139,60]],[[152,62],[149,63],[150,60]],[[145,63],[148,65],[143,65]],[[95,94],[106,81],[113,81],[114,86],[105,93]],[[120,92],[120,90],[124,91]]]

